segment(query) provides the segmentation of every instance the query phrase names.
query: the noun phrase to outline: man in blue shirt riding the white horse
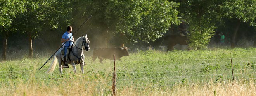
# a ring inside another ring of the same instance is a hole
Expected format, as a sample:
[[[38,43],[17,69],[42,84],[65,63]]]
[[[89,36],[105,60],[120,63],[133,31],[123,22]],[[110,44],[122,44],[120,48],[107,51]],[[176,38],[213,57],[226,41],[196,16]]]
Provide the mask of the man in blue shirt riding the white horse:
[[[64,61],[65,61],[65,66],[64,68],[69,68],[68,66],[68,57],[69,57],[69,49],[73,45],[74,38],[72,36],[72,26],[67,26],[67,31],[62,35],[61,38],[61,43],[64,44]]]

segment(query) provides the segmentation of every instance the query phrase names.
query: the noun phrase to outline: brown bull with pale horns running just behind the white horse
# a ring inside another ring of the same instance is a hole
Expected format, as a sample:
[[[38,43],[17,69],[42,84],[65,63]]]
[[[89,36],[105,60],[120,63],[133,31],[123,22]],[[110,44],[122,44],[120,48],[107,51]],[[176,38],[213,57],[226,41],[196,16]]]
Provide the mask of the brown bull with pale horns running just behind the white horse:
[[[109,48],[94,48],[92,60],[95,61],[96,58],[103,61],[103,59],[113,60],[113,55],[115,55],[116,60],[120,60],[123,56],[129,56],[126,47],[109,47]]]

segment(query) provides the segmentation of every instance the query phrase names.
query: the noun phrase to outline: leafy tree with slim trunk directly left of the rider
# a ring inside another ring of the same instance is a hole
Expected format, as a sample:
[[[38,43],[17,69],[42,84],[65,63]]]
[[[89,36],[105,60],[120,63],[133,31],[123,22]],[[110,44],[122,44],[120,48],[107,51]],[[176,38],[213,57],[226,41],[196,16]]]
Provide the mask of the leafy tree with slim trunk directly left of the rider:
[[[69,0],[29,0],[26,2],[26,12],[15,19],[18,31],[27,34],[29,41],[29,57],[33,57],[32,38],[48,28],[58,28],[67,25],[72,19],[68,7]]]

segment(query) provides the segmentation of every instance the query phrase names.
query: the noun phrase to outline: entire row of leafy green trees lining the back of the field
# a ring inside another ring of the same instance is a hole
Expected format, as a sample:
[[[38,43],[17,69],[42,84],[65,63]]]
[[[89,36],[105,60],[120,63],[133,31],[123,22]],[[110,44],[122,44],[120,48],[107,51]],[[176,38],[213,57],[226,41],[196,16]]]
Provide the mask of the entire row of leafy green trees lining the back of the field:
[[[207,48],[219,32],[232,48],[239,36],[256,36],[255,0],[3,0],[0,8],[3,60],[9,47],[26,45],[31,58],[33,46],[58,48],[66,26],[75,31],[90,15],[74,37],[88,34],[97,47],[153,43],[181,21],[195,49]]]

